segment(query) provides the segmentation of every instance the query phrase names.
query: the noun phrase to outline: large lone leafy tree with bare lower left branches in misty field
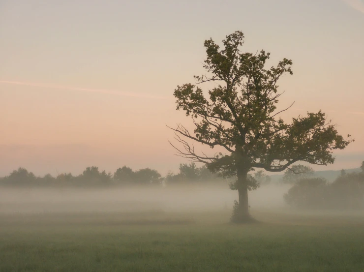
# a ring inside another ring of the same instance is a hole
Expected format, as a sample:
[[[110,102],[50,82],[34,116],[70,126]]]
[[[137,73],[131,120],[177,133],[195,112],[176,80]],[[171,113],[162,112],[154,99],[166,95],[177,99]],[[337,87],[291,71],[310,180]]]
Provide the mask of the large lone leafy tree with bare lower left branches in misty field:
[[[204,68],[208,75],[194,76],[193,84],[177,86],[177,110],[185,111],[195,126],[193,133],[183,125],[171,128],[181,147],[171,144],[178,154],[191,161],[203,162],[212,172],[236,176],[239,204],[234,209],[233,221],[246,222],[249,215],[248,189],[257,188],[257,182],[248,175],[254,168],[270,172],[289,169],[297,161],[327,165],[334,163],[332,152],[344,149],[352,140],[337,133],[335,125],[325,114],[307,113],[307,116],[284,122],[276,111],[278,79],[293,74],[292,60],[283,59],[266,69],[270,53],[242,53],[244,35],[236,31],[222,41],[223,48],[210,38],[206,40],[207,58]],[[199,87],[213,84],[208,92]],[[212,156],[195,151],[189,140],[222,147],[226,153]]]

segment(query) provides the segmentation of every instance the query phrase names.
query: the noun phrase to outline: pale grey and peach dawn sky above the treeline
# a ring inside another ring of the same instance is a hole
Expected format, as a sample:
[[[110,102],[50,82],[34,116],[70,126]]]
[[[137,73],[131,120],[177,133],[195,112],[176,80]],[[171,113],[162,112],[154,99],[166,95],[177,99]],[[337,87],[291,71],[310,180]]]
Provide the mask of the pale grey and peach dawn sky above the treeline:
[[[0,176],[91,165],[178,169],[166,124],[191,123],[173,91],[204,73],[203,42],[243,31],[243,51],[292,59],[283,118],[322,109],[364,160],[364,0],[0,0]],[[278,108],[279,109],[279,108]]]

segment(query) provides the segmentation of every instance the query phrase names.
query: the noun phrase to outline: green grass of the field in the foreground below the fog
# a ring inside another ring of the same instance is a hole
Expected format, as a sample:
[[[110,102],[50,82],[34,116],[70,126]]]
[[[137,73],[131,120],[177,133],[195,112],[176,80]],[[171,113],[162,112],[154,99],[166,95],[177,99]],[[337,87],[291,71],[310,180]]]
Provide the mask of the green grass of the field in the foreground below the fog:
[[[363,272],[357,215],[0,215],[0,272]]]

